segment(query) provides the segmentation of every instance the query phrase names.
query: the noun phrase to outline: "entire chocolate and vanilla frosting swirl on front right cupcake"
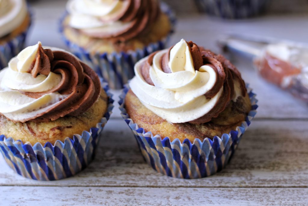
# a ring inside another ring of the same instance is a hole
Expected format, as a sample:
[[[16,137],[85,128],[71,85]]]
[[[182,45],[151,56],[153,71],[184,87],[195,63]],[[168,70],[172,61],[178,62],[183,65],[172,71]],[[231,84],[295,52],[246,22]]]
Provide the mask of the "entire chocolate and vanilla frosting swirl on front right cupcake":
[[[241,74],[228,60],[183,39],[137,62],[135,74],[132,91],[171,123],[209,122],[246,95]]]

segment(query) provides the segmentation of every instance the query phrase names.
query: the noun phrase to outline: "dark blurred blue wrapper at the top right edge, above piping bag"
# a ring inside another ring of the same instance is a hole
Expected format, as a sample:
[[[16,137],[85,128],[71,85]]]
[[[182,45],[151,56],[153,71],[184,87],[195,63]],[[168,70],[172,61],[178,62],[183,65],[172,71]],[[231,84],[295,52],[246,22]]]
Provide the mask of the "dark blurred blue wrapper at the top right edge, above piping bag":
[[[226,19],[243,19],[265,11],[266,0],[195,0],[200,11]]]

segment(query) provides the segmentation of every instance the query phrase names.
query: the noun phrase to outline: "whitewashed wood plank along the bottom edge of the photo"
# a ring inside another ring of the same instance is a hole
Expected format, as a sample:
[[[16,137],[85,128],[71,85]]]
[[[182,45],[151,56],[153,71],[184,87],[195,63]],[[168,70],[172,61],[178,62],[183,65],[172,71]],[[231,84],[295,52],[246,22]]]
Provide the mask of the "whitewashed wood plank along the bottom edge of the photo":
[[[306,205],[305,188],[0,187],[3,205]],[[52,194],[52,195],[51,195]],[[292,194],[292,195],[290,195]]]

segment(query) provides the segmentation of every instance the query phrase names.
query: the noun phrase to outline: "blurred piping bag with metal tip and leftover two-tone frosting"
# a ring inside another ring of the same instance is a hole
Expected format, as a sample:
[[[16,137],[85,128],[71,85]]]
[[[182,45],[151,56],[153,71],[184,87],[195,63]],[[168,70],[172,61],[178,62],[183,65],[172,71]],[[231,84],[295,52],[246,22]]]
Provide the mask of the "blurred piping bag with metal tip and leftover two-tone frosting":
[[[220,38],[218,45],[225,52],[252,58],[261,77],[308,103],[308,44],[231,34]]]

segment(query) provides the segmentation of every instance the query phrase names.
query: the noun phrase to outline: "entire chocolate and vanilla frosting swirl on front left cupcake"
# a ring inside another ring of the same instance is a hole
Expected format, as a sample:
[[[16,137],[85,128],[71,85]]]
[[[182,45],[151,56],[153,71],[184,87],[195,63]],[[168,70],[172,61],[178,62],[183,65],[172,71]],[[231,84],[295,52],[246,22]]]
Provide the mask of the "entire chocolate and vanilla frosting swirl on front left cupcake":
[[[39,42],[0,72],[0,113],[14,122],[78,116],[99,98],[100,81],[77,57]]]

